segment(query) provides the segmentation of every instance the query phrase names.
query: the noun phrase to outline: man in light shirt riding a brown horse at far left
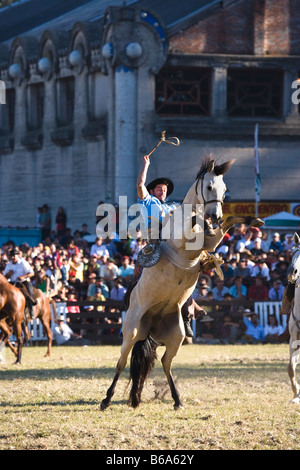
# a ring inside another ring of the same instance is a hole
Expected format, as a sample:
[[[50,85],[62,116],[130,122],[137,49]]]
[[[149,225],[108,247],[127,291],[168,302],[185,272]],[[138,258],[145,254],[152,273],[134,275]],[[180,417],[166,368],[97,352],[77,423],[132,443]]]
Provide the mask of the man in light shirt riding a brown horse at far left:
[[[11,261],[7,263],[3,275],[13,284],[21,284],[20,290],[26,298],[29,313],[33,319],[33,306],[37,304],[34,300],[33,285],[31,283],[31,278],[34,276],[33,269],[28,261],[21,257],[21,252],[18,248],[10,250],[9,256]],[[24,286],[25,289],[22,289],[22,286]]]

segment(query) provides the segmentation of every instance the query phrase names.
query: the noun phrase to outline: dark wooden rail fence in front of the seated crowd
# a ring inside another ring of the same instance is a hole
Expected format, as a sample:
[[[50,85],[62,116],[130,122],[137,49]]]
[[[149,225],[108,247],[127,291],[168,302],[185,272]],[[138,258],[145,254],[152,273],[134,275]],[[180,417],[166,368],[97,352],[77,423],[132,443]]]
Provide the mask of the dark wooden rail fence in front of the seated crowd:
[[[249,300],[231,301],[203,301],[201,306],[209,309],[209,315],[220,319],[230,311],[236,320],[242,318],[242,311],[249,309],[259,316],[259,322],[266,325],[268,315],[275,315],[278,324],[286,327],[286,315],[280,315],[281,302],[253,302]],[[91,307],[94,309],[91,310]],[[102,309],[99,311],[98,309]],[[122,321],[125,315],[125,304],[120,301],[106,300],[93,302],[58,302],[56,304],[57,316],[64,316],[71,329],[94,344],[121,344]],[[194,336],[196,336],[196,322],[192,320]],[[52,331],[56,324],[52,312]],[[47,338],[39,320],[31,322],[31,341],[45,341]]]

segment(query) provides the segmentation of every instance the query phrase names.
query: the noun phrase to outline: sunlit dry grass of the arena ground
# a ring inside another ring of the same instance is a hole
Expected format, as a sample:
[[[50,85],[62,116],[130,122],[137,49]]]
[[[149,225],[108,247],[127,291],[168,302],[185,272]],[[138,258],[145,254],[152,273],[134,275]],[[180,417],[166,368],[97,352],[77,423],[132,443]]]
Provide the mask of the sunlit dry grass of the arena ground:
[[[186,345],[173,374],[184,409],[173,410],[160,363],[143,403],[127,406],[128,369],[113,404],[119,346],[24,348],[0,364],[0,450],[298,450],[300,407],[291,404],[287,345]],[[162,354],[163,348],[158,350]]]

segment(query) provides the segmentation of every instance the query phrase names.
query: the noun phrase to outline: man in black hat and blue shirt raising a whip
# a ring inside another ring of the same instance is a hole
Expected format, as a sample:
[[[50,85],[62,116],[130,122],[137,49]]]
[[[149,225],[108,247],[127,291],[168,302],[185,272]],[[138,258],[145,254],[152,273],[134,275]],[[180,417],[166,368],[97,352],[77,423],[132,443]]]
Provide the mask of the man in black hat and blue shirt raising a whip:
[[[163,217],[170,214],[176,209],[176,203],[167,202],[166,198],[173,192],[174,185],[169,178],[157,178],[146,186],[147,172],[150,165],[150,158],[148,155],[144,156],[143,166],[137,177],[137,194],[138,202],[146,207],[148,213],[148,223],[151,223],[151,218],[156,218],[162,222]],[[182,306],[182,318],[184,322],[186,336],[192,337],[193,330],[190,325],[191,316],[190,311],[197,310],[198,312],[205,313],[192,298]]]

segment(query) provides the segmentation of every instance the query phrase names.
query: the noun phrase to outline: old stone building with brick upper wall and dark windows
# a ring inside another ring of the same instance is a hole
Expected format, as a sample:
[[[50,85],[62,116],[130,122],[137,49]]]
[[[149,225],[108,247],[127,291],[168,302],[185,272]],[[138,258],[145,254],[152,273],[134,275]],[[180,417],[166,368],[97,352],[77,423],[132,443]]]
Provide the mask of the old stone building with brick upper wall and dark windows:
[[[92,229],[99,201],[135,202],[163,130],[181,145],[158,148],[149,180],[173,179],[177,200],[207,153],[236,159],[230,197],[253,200],[256,123],[261,199],[300,199],[298,0],[69,3],[0,11],[1,225],[47,203]]]

